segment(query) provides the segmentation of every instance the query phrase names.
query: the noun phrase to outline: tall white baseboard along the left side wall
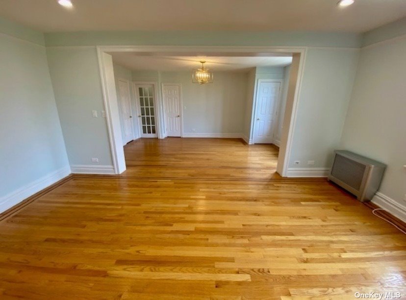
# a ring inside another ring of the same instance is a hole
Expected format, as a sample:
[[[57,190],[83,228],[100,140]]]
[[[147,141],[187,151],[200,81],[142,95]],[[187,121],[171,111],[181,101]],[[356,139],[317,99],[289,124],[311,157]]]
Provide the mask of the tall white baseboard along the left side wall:
[[[0,198],[0,212],[12,208],[13,206],[19,204],[26,198],[32,196],[35,193],[38,193],[40,190],[50,185],[53,185],[54,183],[65,178],[69,174],[71,174],[71,168],[63,167],[33,182],[30,182],[29,184],[24,185],[19,189],[12,191],[11,193],[8,193],[7,195]]]

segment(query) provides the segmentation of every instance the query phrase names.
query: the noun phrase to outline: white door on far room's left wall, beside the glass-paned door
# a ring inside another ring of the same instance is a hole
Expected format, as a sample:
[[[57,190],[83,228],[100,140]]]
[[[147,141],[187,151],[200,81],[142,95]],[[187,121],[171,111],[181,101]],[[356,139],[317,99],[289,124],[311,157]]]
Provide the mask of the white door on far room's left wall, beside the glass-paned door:
[[[134,128],[132,126],[131,97],[129,82],[119,79],[121,128],[123,131],[123,145],[134,139]]]

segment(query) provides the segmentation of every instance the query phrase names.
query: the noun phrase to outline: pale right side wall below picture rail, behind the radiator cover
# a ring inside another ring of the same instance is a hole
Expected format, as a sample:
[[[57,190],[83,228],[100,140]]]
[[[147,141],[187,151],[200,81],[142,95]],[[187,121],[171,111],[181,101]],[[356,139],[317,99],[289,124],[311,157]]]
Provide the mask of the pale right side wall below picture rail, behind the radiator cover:
[[[406,37],[362,49],[341,138],[342,148],[388,165],[380,191],[403,206],[406,206],[405,77]]]

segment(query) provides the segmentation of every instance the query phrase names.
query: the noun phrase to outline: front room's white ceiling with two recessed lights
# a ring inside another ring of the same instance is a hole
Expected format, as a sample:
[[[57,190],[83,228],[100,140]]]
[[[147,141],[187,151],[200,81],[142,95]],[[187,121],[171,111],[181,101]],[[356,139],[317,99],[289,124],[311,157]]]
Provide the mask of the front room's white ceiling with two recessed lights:
[[[0,16],[44,32],[318,30],[364,32],[406,15],[406,0],[0,0]]]

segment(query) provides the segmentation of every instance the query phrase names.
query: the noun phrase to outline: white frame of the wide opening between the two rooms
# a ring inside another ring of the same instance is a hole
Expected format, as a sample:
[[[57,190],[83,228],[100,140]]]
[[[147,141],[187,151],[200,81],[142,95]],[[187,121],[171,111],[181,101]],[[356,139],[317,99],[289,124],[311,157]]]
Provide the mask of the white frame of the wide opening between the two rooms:
[[[115,84],[112,84],[114,83],[113,58],[109,52],[154,52],[157,55],[165,55],[165,53],[168,52],[185,54],[190,52],[212,52],[222,56],[230,56],[234,53],[249,53],[250,55],[260,53],[262,55],[269,54],[269,56],[275,56],[279,53],[291,54],[293,56],[292,66],[295,66],[297,71],[295,74],[295,82],[289,80],[289,86],[290,83],[292,83],[293,96],[288,97],[286,102],[286,107],[288,110],[285,111],[285,118],[283,121],[285,129],[282,131],[277,165],[277,172],[282,177],[287,177],[288,164],[292,153],[293,134],[296,127],[300,93],[302,90],[307,49],[307,46],[96,46],[99,60],[101,90],[103,94],[108,136],[110,140],[110,151],[115,173],[121,174],[126,170],[126,160],[124,157],[123,146],[121,145],[121,128],[120,126],[117,126],[120,124],[120,119],[117,112],[117,93],[115,92]],[[158,101],[160,100],[158,99]],[[159,111],[162,112],[161,103],[159,108]],[[160,115],[159,120],[161,120]],[[160,123],[160,125],[161,124],[162,123]],[[162,130],[158,130],[158,138],[164,138],[161,131]],[[120,140],[117,137],[120,137]]]

